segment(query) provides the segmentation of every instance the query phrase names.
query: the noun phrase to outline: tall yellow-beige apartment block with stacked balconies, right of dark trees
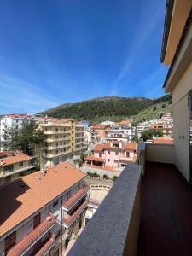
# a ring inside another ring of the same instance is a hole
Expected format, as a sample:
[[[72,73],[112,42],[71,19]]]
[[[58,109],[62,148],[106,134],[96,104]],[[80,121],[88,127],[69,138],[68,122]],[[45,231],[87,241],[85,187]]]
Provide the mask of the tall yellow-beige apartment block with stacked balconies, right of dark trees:
[[[39,124],[47,135],[44,143],[44,166],[54,166],[86,149],[84,126],[74,119],[61,119]]]

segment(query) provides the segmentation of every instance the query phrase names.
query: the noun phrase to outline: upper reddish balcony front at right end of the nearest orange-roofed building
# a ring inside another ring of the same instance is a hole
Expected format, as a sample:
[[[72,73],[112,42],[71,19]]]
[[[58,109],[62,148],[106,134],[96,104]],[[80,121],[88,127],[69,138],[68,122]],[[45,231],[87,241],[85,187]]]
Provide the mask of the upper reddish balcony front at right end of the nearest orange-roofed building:
[[[82,189],[79,189],[79,191],[73,195],[69,200],[65,201],[63,203],[63,208],[66,211],[69,211],[79,200],[81,200],[84,195],[87,194],[87,192],[90,190],[90,186],[85,186]]]

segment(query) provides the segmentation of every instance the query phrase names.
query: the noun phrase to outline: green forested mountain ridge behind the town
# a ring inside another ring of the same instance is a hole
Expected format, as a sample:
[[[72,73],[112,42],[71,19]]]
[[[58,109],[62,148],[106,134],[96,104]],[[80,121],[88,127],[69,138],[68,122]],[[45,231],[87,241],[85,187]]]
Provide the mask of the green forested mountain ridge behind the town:
[[[83,102],[65,103],[58,107],[42,112],[55,118],[87,119],[92,123],[102,122],[106,119],[119,121],[137,115],[144,109],[155,104],[171,104],[170,95],[157,99],[146,97],[105,96],[89,99]],[[163,111],[163,110],[162,110]]]

